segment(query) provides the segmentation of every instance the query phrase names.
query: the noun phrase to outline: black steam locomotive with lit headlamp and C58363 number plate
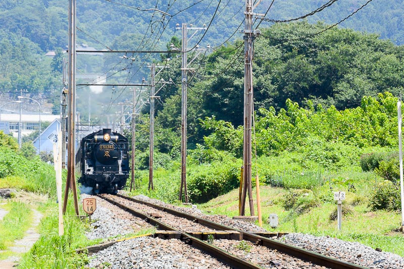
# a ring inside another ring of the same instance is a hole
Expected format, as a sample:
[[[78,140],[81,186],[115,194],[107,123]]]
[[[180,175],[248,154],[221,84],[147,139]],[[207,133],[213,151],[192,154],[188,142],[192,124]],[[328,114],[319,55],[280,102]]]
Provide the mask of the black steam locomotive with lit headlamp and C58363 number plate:
[[[87,135],[76,154],[78,182],[95,193],[117,193],[129,177],[128,151],[128,139],[111,129]]]

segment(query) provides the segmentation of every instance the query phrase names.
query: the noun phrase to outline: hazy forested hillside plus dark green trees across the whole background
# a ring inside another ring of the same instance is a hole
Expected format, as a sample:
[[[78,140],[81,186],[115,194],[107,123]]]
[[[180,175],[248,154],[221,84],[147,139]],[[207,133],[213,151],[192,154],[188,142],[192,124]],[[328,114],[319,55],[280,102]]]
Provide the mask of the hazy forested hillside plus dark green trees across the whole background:
[[[290,20],[321,9],[325,4],[327,8],[313,13],[306,22],[274,26],[267,21],[261,23],[263,35],[257,40],[255,50],[258,107],[273,105],[279,109],[287,98],[291,98],[300,103],[315,99],[316,103],[334,104],[343,109],[358,105],[364,94],[372,95],[384,90],[394,94],[399,92],[402,85],[402,47],[394,43],[401,44],[404,40],[400,23],[404,16],[402,0],[373,0],[369,3],[365,0],[264,1],[255,11],[265,13],[272,5],[267,19]],[[366,7],[340,25],[311,36],[348,17],[364,4],[367,4]],[[0,92],[17,94],[15,89],[24,88],[32,94],[44,93],[48,99],[58,103],[62,88],[61,50],[66,49],[68,41],[67,6],[68,1],[0,3]],[[208,30],[197,32],[190,44],[199,41],[201,46],[206,46],[209,43],[216,47],[216,51],[207,51],[204,60],[199,57],[199,61],[194,62],[197,71],[192,80],[191,95],[194,91],[203,94],[204,98],[195,104],[191,119],[205,114],[218,115],[220,119],[238,125],[242,113],[239,109],[242,99],[241,50],[222,52],[239,46],[239,41],[235,40],[241,40],[238,27],[243,27],[243,10],[244,1],[78,1],[78,44],[86,43],[96,49],[165,50],[173,36],[181,36],[181,30],[175,29],[176,23],[206,24]],[[317,23],[318,20],[324,23]],[[268,30],[268,27],[271,28]],[[376,34],[362,35],[342,30],[343,27]],[[392,41],[382,41],[377,34]],[[305,38],[307,36],[310,37]],[[225,46],[219,47],[222,44]],[[57,57],[45,57],[48,50],[57,50]],[[133,83],[142,77],[147,79],[149,71],[146,63],[160,61],[157,54],[127,56],[136,60],[128,63],[115,53],[104,57],[79,55],[77,74],[86,77],[88,73],[98,76],[106,73],[110,83]],[[179,62],[175,56],[171,55],[171,58],[171,65],[176,69],[165,71],[164,76],[178,82]],[[229,72],[214,72],[224,69]],[[203,92],[201,88],[204,88]],[[168,87],[162,92],[162,99],[177,94],[177,89],[175,86]],[[105,90],[107,94],[102,98],[94,98],[99,102],[118,102],[131,95],[127,87],[112,92]],[[82,88],[78,94],[87,96],[87,92],[87,88]],[[59,107],[55,108],[57,112]],[[166,110],[174,110],[174,107]],[[82,112],[82,115],[86,113]],[[177,113],[170,115],[176,116]],[[167,122],[172,120],[167,119]]]

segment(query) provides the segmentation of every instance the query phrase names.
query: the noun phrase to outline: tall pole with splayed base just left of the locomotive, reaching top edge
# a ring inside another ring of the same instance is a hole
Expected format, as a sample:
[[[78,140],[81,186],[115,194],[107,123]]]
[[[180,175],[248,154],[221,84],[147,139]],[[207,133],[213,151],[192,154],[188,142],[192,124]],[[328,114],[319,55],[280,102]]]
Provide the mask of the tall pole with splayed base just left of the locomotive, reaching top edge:
[[[67,199],[69,189],[72,189],[74,196],[74,208],[76,215],[79,215],[77,201],[76,177],[75,177],[75,127],[74,120],[76,115],[76,0],[69,0],[69,113],[68,113],[68,162],[67,162],[67,180],[65,188],[65,197],[63,201],[63,213],[66,213]]]

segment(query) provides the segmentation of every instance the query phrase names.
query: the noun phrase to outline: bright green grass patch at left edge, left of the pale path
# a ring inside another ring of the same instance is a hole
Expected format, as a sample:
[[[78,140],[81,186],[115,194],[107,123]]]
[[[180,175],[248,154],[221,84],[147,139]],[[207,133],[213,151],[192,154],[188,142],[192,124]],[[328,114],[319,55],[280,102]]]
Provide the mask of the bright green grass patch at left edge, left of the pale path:
[[[26,203],[9,201],[4,208],[9,212],[0,222],[0,250],[6,250],[14,240],[23,238],[32,219],[32,211]]]

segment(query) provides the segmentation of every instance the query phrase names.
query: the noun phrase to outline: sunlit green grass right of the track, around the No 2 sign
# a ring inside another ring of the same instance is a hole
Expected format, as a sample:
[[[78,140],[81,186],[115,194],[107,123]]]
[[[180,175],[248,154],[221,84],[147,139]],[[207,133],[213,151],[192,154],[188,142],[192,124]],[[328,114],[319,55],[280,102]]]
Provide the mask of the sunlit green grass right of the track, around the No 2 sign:
[[[385,210],[370,211],[367,207],[366,197],[362,194],[347,193],[345,205],[360,201],[362,203],[352,206],[354,213],[343,216],[342,228],[337,229],[336,221],[329,221],[331,212],[336,208],[336,203],[321,201],[319,207],[314,207],[303,214],[291,214],[292,210],[285,210],[282,206],[282,196],[287,193],[283,188],[271,188],[261,186],[261,208],[263,227],[272,232],[307,233],[317,236],[331,236],[342,240],[359,242],[372,248],[381,248],[383,251],[404,256],[404,235],[395,233],[400,224],[399,212]],[[320,195],[332,195],[332,190],[321,188],[314,192]],[[258,215],[256,203],[256,190],[253,189],[255,202],[255,215]],[[342,206],[344,206],[344,204]],[[209,214],[225,214],[229,217],[238,216],[238,190],[233,190],[211,201],[198,204],[198,208]],[[246,202],[246,215],[249,215],[249,207]],[[267,224],[270,213],[276,213],[279,217],[279,226],[271,228]]]

